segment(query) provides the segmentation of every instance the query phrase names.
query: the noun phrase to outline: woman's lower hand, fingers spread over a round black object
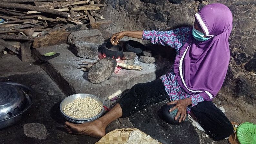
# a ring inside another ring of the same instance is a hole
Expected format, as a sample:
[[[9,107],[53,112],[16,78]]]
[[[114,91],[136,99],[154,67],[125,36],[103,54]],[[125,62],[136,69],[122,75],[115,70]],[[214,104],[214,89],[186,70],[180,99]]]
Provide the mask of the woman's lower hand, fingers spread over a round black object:
[[[185,120],[186,117],[187,117],[187,109],[186,107],[188,105],[191,105],[192,104],[192,101],[190,98],[186,98],[186,99],[183,99],[183,100],[175,100],[175,101],[172,101],[172,102],[169,102],[167,103],[167,105],[170,105],[170,104],[176,104],[174,107],[172,107],[169,112],[175,110],[175,109],[178,109],[178,112],[175,116],[175,120],[178,119],[178,117],[180,116],[180,119],[179,119],[179,122],[181,122],[182,120]]]

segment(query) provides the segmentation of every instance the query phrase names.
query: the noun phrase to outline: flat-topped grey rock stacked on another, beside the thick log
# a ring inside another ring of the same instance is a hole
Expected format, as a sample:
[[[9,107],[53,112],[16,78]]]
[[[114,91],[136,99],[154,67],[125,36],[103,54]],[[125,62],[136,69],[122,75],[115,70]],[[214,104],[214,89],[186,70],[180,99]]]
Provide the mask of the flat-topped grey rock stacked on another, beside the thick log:
[[[74,44],[75,42],[89,42],[89,43],[98,43],[102,44],[104,42],[101,32],[99,30],[82,30],[82,31],[76,31],[72,32],[68,36],[68,43]]]

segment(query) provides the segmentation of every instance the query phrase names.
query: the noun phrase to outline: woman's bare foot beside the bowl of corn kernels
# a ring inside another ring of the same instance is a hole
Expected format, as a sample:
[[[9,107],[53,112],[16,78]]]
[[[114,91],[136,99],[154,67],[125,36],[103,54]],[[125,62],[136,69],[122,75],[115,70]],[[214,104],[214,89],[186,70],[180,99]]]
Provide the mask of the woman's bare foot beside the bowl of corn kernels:
[[[106,126],[100,120],[82,124],[74,124],[66,121],[64,126],[68,133],[88,135],[95,138],[102,138],[106,134]]]

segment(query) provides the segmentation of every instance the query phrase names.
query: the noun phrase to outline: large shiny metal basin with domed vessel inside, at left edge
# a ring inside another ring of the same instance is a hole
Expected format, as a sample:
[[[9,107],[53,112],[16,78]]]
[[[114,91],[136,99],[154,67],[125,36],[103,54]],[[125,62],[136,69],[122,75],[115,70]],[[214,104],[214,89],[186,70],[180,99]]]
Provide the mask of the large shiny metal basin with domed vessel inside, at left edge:
[[[0,129],[19,121],[34,100],[34,91],[23,84],[0,82]]]

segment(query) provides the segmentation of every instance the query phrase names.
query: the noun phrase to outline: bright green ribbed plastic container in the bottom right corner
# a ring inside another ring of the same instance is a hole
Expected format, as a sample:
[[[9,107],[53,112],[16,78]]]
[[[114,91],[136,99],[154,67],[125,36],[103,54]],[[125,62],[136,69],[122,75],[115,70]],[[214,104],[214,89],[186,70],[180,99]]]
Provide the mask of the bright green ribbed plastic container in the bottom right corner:
[[[256,144],[256,124],[244,122],[238,126],[236,134],[240,144]]]

